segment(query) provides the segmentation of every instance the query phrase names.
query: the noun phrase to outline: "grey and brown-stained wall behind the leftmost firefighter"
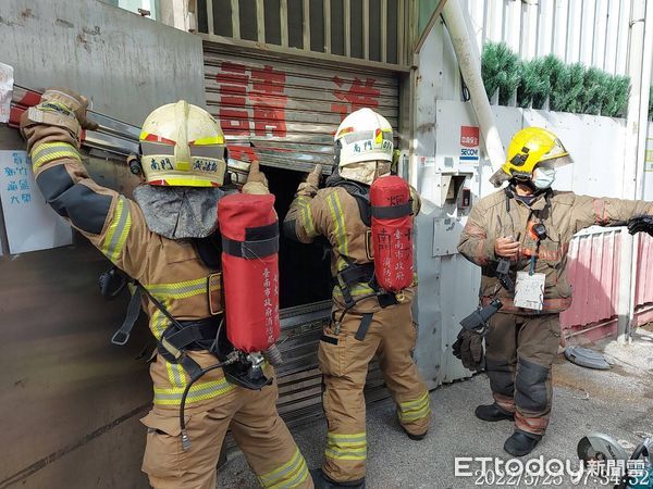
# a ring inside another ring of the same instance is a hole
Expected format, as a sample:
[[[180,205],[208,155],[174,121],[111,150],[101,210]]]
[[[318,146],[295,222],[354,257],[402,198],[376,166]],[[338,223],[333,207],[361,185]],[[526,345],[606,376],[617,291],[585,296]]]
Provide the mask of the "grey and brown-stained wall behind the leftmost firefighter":
[[[72,87],[136,125],[182,97],[204,105],[201,42],[190,34],[96,0],[3,0],[0,16],[0,61],[16,84]],[[17,130],[0,126],[0,149],[24,149]],[[125,165],[85,164],[130,195]],[[0,215],[0,237],[2,228]],[[136,358],[150,335],[140,324],[127,347],[110,343],[126,304],[98,291],[109,266],[78,235],[69,247],[0,256],[0,488],[148,486],[138,419],[151,381]]]

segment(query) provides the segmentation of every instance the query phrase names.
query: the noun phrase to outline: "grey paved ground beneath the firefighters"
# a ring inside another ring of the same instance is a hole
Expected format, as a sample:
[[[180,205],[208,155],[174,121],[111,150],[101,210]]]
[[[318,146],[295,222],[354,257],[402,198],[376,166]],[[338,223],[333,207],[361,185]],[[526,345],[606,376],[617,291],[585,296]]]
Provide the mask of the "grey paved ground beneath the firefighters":
[[[554,366],[552,422],[532,457],[542,455],[544,460],[576,463],[576,444],[591,431],[609,434],[631,447],[630,451],[642,436],[653,434],[651,331],[653,329],[640,329],[631,346],[620,347],[615,342],[594,346],[614,361],[611,371],[591,371],[567,362],[562,355],[558,358]],[[477,404],[491,399],[484,374],[443,386],[431,393],[431,399],[434,421],[422,441],[411,441],[402,432],[392,402],[382,401],[368,408],[368,488],[475,487],[475,477],[454,476],[454,457],[509,459],[503,443],[513,431],[512,425],[483,423],[473,415]],[[323,422],[294,431],[310,467],[321,464],[324,432]],[[480,465],[472,467],[480,468]],[[570,487],[571,484],[542,480],[529,487],[551,486]],[[219,488],[236,487],[257,487],[242,454],[232,457],[220,473]]]

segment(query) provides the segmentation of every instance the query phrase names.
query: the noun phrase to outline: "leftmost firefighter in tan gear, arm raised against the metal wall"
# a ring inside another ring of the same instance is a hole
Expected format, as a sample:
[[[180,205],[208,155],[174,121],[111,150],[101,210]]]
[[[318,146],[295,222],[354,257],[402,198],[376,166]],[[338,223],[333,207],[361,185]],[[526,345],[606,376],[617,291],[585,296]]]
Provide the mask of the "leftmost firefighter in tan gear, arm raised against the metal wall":
[[[97,185],[82,164],[81,131],[96,127],[86,108],[86,99],[73,91],[48,89],[25,112],[21,128],[46,201],[145,292],[141,303],[159,344],[150,367],[153,408],[141,419],[147,426],[143,471],[150,484],[214,489],[215,465],[231,429],[262,487],[313,487],[276,412],[275,384],[252,390],[235,374],[227,379],[226,367],[211,371],[187,390],[181,427],[189,372],[218,363],[212,351],[222,311],[214,243],[226,174],[219,124],[183,100],[155,110],[140,135],[149,185],[140,185],[132,201]],[[268,193],[257,163],[243,191]],[[119,333],[116,342],[126,340],[128,331]],[[273,375],[271,367],[266,373]]]

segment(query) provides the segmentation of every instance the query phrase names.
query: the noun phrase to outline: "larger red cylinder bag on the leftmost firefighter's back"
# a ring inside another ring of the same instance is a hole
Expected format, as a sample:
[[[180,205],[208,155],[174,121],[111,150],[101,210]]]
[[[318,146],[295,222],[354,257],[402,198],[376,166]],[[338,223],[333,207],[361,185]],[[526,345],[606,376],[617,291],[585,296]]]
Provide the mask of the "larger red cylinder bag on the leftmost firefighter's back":
[[[279,338],[279,220],[274,196],[232,193],[218,201],[226,337],[246,353]]]

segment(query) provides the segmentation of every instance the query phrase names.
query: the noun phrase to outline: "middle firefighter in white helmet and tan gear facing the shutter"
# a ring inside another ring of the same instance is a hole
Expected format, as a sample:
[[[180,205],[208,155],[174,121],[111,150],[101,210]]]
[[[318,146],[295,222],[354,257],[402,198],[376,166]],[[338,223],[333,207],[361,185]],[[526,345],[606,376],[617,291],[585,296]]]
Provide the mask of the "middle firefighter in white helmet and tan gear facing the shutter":
[[[416,340],[412,288],[397,299],[398,294],[379,290],[373,280],[366,210],[370,185],[390,174],[392,155],[392,127],[383,116],[370,109],[349,114],[335,133],[335,164],[326,188],[319,189],[318,165],[299,185],[284,220],[286,238],[305,243],[326,238],[332,274],[340,284],[333,288],[333,321],[323,331],[318,352],[328,434],[322,471],[313,474],[317,487],[365,487],[362,389],[374,355],[397,404],[402,428],[415,440],[429,429],[429,392],[411,359]],[[417,208],[419,197],[414,192],[412,198]]]

